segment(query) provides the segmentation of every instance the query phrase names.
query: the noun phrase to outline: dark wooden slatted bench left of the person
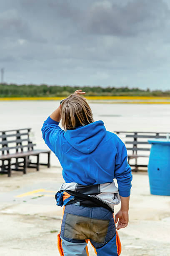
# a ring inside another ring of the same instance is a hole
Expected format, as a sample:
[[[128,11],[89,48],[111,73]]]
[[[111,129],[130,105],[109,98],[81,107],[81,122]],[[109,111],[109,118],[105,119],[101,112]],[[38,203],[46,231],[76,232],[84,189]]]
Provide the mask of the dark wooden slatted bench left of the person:
[[[0,131],[0,174],[11,176],[11,170],[26,174],[26,168],[39,170],[39,156],[41,153],[48,155],[47,165],[50,168],[50,150],[34,149],[36,144],[30,141],[31,128]],[[33,163],[30,156],[37,156]],[[11,160],[14,160],[13,162]],[[19,161],[21,159],[21,161]]]

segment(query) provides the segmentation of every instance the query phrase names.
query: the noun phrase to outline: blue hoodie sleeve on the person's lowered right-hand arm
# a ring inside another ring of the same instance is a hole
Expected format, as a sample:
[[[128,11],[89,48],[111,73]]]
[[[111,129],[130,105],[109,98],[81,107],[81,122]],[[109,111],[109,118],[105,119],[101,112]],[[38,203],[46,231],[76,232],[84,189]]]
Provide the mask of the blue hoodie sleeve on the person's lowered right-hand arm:
[[[122,197],[129,197],[132,187],[132,173],[127,159],[128,154],[125,144],[120,140],[115,158],[115,179],[117,179],[119,194]]]

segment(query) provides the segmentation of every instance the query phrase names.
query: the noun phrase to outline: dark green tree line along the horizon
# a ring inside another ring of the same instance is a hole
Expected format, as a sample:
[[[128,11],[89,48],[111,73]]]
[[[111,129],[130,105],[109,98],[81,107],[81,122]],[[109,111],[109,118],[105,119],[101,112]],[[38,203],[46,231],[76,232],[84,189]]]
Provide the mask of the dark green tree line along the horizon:
[[[47,84],[0,84],[0,97],[67,97],[82,89],[87,96],[158,96],[170,97],[170,90],[142,90],[126,87],[60,86]]]

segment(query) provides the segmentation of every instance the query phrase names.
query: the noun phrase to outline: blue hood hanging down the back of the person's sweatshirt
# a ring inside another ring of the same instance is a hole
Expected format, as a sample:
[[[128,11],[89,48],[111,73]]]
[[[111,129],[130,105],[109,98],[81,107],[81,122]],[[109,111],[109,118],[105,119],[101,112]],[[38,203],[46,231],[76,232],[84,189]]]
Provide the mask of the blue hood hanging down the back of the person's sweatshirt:
[[[67,130],[65,138],[68,143],[78,151],[90,154],[94,151],[106,134],[103,121],[95,121],[74,130]]]

